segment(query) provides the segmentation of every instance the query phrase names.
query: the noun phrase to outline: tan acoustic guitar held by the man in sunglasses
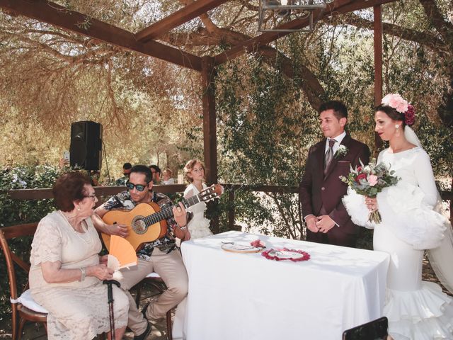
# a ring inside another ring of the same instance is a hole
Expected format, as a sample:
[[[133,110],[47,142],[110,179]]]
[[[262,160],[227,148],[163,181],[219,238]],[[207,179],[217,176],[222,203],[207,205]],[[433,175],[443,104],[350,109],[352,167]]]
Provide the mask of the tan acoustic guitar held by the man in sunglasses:
[[[185,208],[189,208],[197,203],[219,198],[222,192],[223,187],[220,184],[214,184],[195,196],[184,198],[182,203]],[[166,219],[172,216],[173,206],[161,210],[157,203],[151,202],[139,203],[132,210],[110,210],[105,213],[102,219],[108,225],[114,225],[115,223],[127,225],[129,236],[126,239],[137,250],[143,243],[153,242],[164,237],[167,232]],[[110,235],[102,233],[102,239],[107,249],[109,249]]]

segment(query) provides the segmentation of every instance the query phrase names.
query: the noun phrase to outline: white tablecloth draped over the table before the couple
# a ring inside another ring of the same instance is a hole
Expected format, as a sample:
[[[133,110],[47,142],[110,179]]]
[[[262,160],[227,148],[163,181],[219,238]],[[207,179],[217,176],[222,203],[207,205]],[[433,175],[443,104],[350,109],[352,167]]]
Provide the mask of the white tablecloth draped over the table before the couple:
[[[271,261],[221,248],[257,238],[267,249],[302,249],[311,259]],[[382,316],[386,253],[241,232],[183,242],[181,251],[188,340],[333,340]]]

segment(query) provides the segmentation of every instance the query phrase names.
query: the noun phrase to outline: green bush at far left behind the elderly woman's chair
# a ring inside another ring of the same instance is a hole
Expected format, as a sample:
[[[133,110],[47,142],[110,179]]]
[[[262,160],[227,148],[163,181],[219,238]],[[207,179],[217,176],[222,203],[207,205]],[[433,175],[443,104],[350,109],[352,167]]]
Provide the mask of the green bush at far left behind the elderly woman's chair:
[[[53,199],[48,200],[12,200],[5,191],[12,189],[50,188],[55,183],[60,171],[52,166],[21,166],[0,171],[0,227],[38,222],[47,213],[55,210]],[[13,239],[11,249],[21,254],[25,261],[30,257],[32,237]],[[27,277],[23,271],[16,271],[18,287],[23,287]],[[0,253],[0,319],[11,313],[9,302],[8,275],[3,252]]]

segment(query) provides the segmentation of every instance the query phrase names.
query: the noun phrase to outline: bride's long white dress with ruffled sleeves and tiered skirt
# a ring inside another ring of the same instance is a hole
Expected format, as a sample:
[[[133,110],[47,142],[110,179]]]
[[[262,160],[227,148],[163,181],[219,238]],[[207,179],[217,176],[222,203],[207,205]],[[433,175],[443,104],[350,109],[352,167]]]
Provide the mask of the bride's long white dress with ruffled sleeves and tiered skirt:
[[[421,280],[423,249],[439,246],[450,227],[433,210],[437,189],[428,154],[420,147],[396,154],[385,149],[379,162],[401,177],[377,195],[382,222],[367,222],[365,198],[355,191],[348,190],[343,203],[357,225],[374,227],[374,250],[391,256],[384,306],[389,333],[395,340],[453,339],[453,298]]]

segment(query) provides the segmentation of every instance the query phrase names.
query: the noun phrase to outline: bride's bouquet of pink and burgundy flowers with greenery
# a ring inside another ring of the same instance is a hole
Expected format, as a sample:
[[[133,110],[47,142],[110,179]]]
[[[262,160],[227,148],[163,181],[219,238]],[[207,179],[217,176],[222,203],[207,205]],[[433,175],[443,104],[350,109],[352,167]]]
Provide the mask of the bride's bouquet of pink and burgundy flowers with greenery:
[[[359,195],[375,198],[383,188],[398,183],[399,178],[394,176],[395,171],[390,170],[390,166],[384,163],[376,164],[375,159],[371,159],[367,166],[364,166],[360,159],[359,162],[360,166],[356,166],[355,169],[350,167],[348,177],[340,176],[340,180],[348,183],[348,186]],[[379,224],[382,221],[379,210],[370,212],[368,221]]]

